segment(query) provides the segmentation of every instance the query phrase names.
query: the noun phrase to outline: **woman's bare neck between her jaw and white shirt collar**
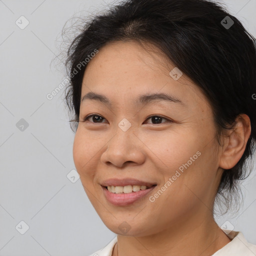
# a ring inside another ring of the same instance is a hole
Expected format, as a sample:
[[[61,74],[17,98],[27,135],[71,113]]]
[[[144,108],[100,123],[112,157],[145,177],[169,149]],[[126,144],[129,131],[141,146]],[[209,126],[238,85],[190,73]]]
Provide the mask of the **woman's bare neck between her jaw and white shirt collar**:
[[[208,256],[230,242],[229,237],[218,227],[213,216],[201,218],[197,223],[191,221],[192,219],[183,224],[177,223],[161,232],[147,236],[118,234],[112,256]]]

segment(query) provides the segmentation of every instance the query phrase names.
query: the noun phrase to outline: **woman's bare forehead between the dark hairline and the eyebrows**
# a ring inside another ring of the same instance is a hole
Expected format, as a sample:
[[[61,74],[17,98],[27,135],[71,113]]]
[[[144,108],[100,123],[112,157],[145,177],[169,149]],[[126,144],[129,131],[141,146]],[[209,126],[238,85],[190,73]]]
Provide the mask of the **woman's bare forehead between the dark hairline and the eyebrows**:
[[[170,76],[169,72],[174,67],[153,45],[142,47],[133,41],[112,42],[100,48],[87,64],[81,98],[93,91],[117,102],[159,92],[182,99],[190,107],[203,102],[207,104],[206,98],[189,77],[182,74],[174,80]]]

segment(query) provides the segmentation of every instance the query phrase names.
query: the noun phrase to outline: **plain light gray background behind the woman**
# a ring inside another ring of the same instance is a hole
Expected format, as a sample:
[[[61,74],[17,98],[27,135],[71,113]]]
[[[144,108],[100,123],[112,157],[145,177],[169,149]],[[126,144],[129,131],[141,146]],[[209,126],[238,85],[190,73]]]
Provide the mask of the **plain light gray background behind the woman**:
[[[80,179],[72,183],[66,176],[74,169],[74,134],[64,89],[46,98],[64,79],[61,68],[50,65],[60,52],[64,23],[96,13],[107,2],[0,0],[0,256],[88,255],[115,235],[96,214]],[[256,0],[224,2],[256,36]],[[29,21],[24,29],[15,23],[21,15]],[[256,244],[255,170],[242,189],[237,214],[215,216],[216,221]],[[20,221],[29,226],[24,234]]]

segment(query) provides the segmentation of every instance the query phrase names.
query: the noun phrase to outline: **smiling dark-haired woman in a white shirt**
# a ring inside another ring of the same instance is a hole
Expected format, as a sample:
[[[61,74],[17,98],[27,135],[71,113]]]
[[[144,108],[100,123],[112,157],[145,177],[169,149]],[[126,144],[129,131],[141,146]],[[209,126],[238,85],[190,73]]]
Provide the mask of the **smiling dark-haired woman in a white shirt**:
[[[74,38],[73,159],[117,234],[92,255],[256,255],[213,218],[255,147],[254,42],[205,0],[126,0]]]

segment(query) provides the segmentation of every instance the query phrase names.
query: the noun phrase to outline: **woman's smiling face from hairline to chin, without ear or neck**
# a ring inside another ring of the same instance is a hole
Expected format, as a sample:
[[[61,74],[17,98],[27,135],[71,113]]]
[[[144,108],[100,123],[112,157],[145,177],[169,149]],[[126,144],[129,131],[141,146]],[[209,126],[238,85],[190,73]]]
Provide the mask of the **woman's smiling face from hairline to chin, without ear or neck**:
[[[151,49],[154,52],[135,42],[110,43],[89,61],[82,81],[81,98],[94,92],[109,104],[81,101],[79,119],[95,115],[78,124],[74,163],[98,215],[118,234],[142,236],[184,224],[192,228],[211,215],[220,180],[206,97],[178,70],[169,74],[175,66]],[[136,101],[154,93],[173,100]],[[134,200],[135,193],[145,191],[107,192],[102,186],[107,179],[137,179],[156,186]]]

